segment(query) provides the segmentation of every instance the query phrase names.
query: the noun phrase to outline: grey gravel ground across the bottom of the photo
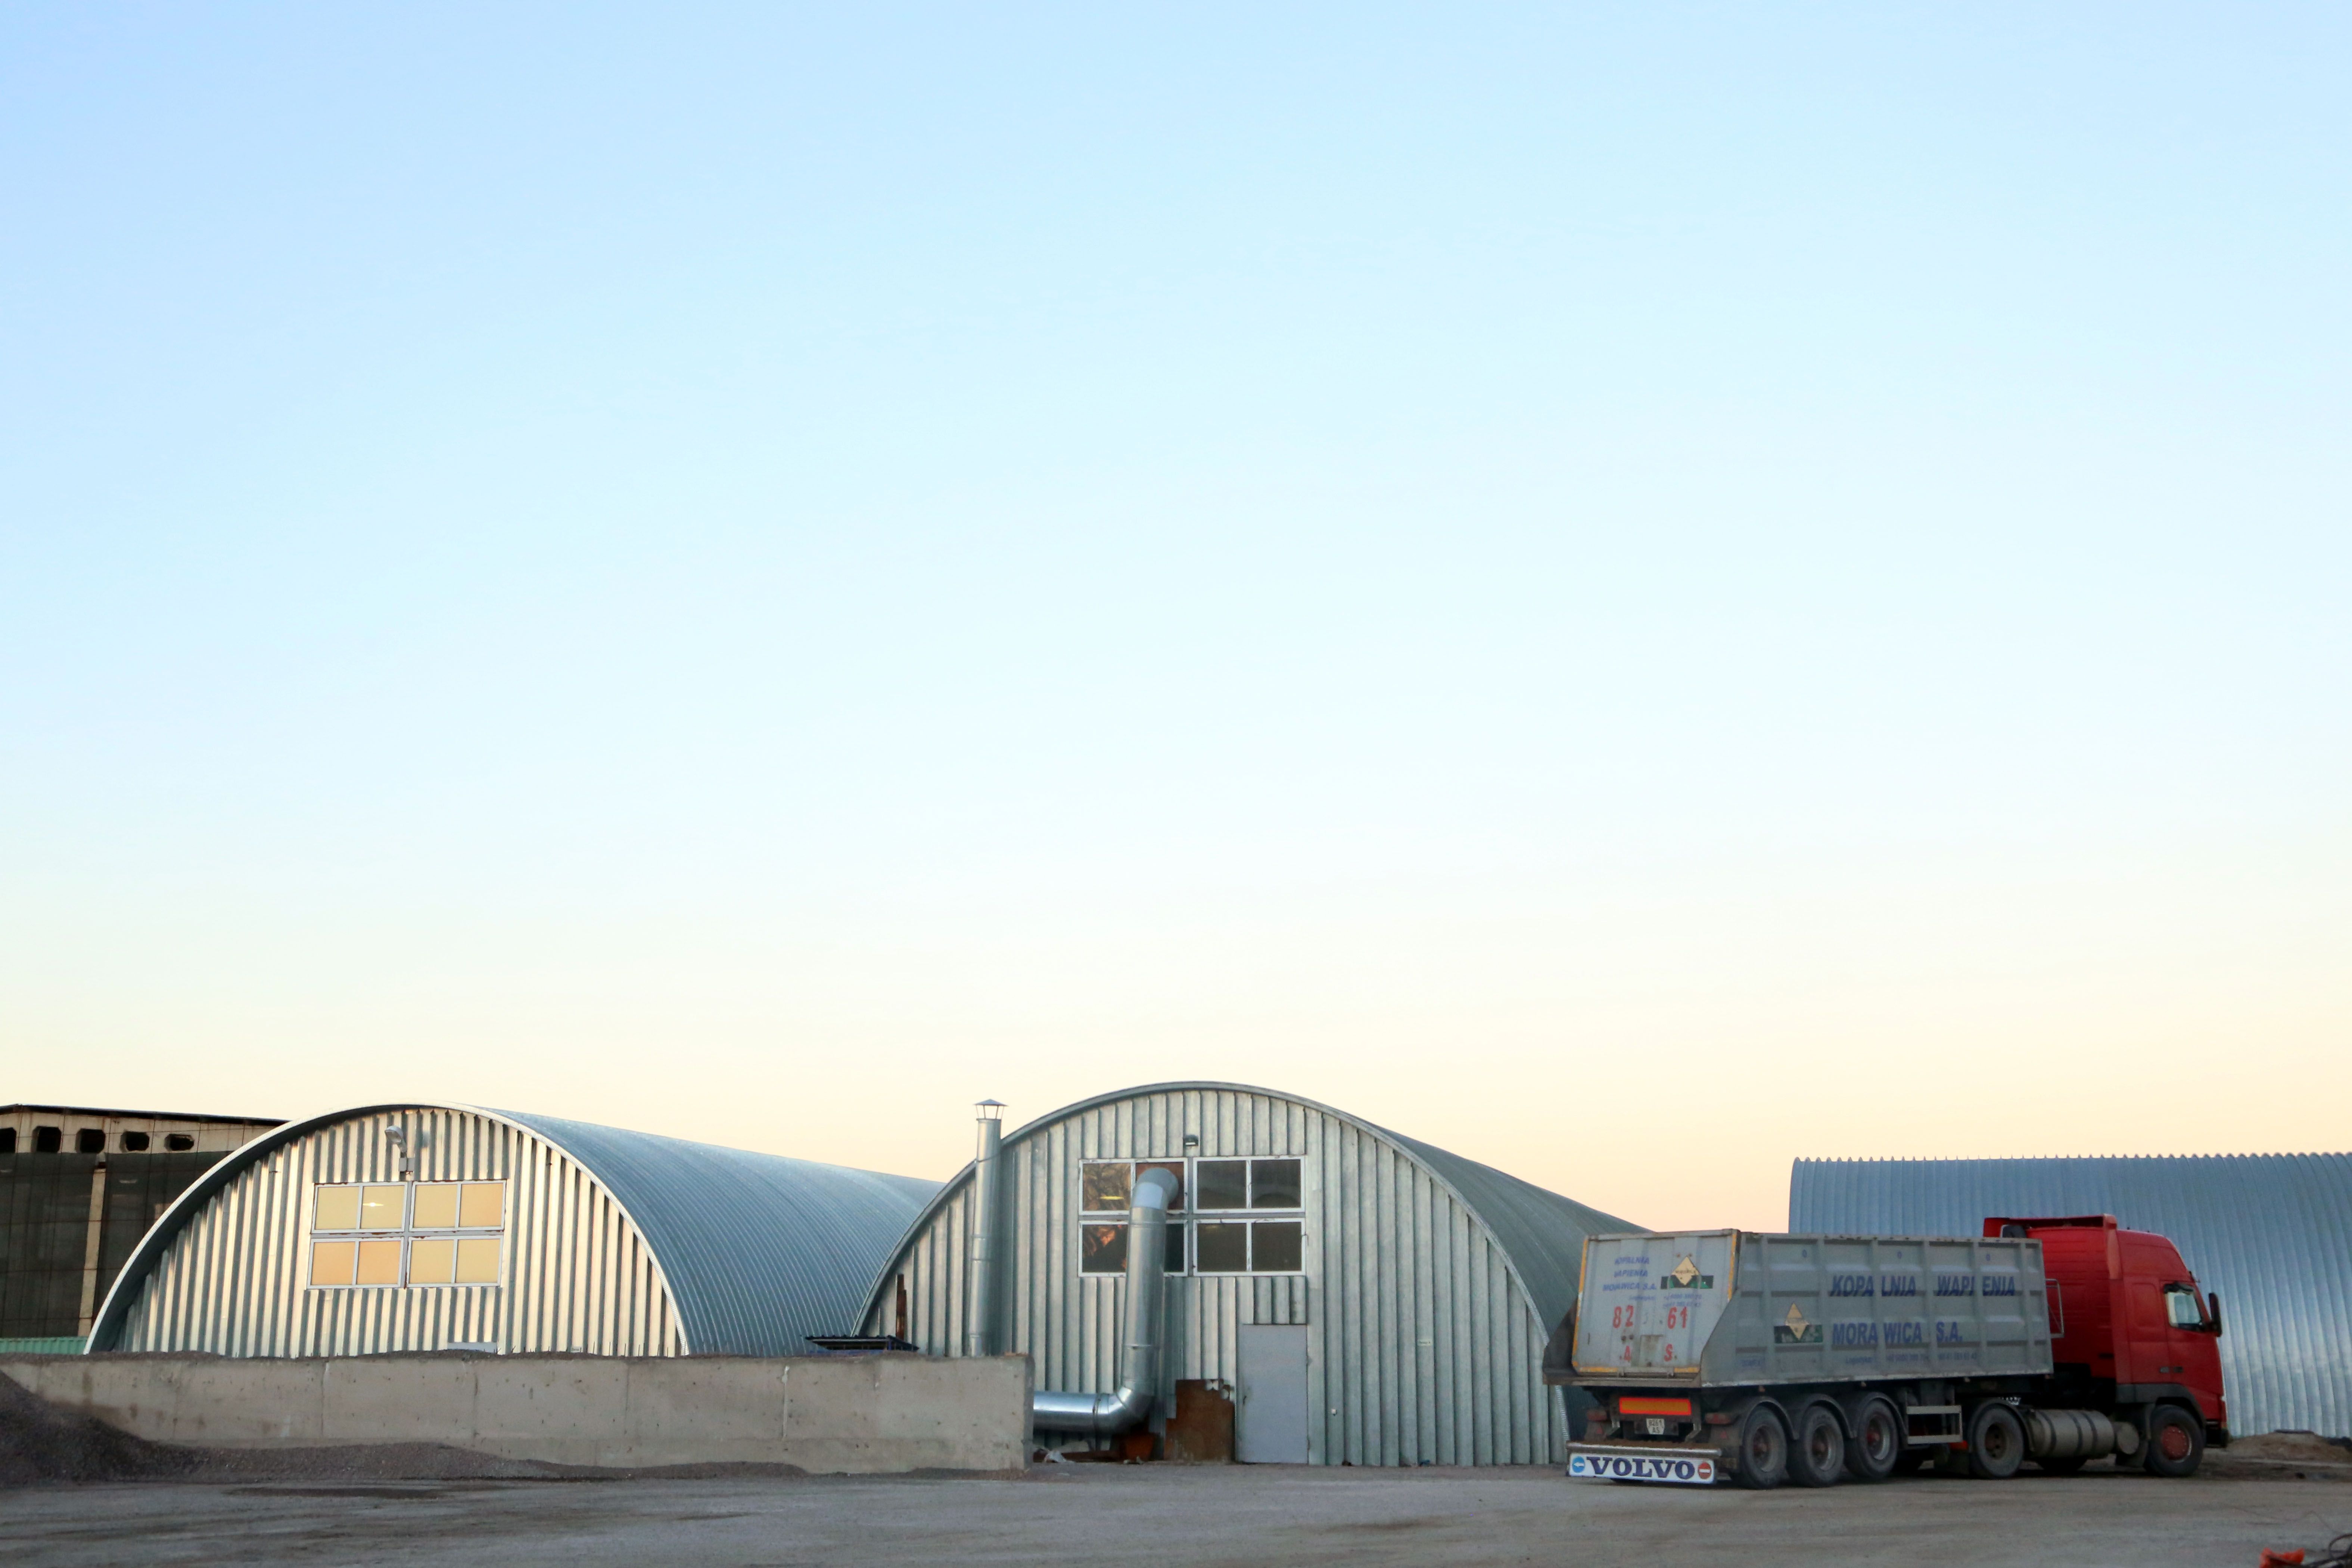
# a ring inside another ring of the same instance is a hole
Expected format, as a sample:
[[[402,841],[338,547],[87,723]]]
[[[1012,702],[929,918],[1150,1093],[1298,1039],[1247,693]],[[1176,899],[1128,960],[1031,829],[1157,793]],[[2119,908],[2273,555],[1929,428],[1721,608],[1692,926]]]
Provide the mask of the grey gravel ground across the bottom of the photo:
[[[111,1483],[0,1493],[5,1556],[103,1563],[2239,1563],[2352,1486],[2232,1467],[1686,1490],[1555,1469],[1047,1465],[1021,1479]],[[2352,1472],[2347,1472],[2352,1474]],[[2338,1476],[2328,1476],[2338,1479]]]

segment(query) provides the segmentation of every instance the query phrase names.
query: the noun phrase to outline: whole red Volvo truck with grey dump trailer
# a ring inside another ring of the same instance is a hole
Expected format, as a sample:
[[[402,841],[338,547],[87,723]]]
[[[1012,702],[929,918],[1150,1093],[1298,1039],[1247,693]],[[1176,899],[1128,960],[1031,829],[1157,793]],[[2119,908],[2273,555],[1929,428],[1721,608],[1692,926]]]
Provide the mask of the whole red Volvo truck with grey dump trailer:
[[[1983,1237],[1592,1237],[1543,1380],[1597,1403],[1569,1474],[1769,1488],[1936,1460],[2006,1479],[2227,1446],[2220,1298],[2114,1215]]]

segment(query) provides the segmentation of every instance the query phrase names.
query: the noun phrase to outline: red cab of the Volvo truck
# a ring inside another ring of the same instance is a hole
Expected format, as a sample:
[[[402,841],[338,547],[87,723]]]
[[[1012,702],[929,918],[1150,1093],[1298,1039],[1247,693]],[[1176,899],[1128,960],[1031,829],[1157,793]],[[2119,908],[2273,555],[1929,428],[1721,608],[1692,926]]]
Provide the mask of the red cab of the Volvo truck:
[[[1992,1218],[1987,1237],[2032,1237],[2051,1298],[2053,1375],[2084,1401],[2129,1410],[2197,1410],[2206,1441],[2227,1446],[2220,1392],[2220,1298],[2204,1295],[2169,1239],[2114,1215]],[[2145,1429],[2145,1422],[2143,1422]]]

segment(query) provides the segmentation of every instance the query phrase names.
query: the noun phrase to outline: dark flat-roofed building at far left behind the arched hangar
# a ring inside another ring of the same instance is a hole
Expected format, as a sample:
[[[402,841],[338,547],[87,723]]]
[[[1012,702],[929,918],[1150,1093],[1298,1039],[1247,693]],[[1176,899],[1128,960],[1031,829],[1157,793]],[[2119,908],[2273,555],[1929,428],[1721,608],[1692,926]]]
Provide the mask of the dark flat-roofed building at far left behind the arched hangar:
[[[148,1225],[278,1126],[82,1105],[0,1105],[0,1347],[80,1349]]]

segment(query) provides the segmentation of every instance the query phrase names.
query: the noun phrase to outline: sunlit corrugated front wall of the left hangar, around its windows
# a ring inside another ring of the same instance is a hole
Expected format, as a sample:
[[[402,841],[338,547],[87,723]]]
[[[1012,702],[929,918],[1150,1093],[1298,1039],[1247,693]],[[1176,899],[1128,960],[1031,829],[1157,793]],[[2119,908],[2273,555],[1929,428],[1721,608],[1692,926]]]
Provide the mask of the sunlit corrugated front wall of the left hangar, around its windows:
[[[402,1121],[433,1135],[409,1180],[508,1182],[506,1284],[303,1284],[310,1187],[402,1180],[400,1147],[383,1135]],[[534,1133],[454,1110],[350,1117],[245,1164],[143,1269],[111,1347],[350,1356],[454,1340],[506,1352],[687,1352],[661,1267],[595,1175]]]

